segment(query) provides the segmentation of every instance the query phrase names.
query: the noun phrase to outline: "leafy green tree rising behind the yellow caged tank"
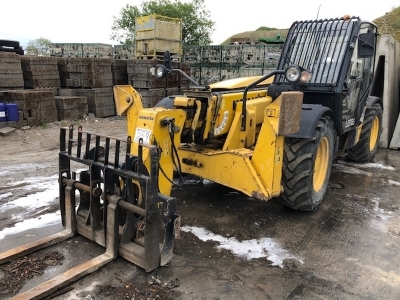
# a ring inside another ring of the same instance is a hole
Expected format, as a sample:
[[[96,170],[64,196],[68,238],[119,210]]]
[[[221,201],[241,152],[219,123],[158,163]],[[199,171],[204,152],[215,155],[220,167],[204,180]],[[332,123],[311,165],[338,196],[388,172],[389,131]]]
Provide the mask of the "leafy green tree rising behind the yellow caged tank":
[[[121,44],[133,44],[135,19],[152,14],[181,19],[184,45],[208,45],[212,42],[215,22],[210,19],[204,0],[149,0],[143,1],[140,8],[127,4],[119,17],[114,16],[111,39]]]

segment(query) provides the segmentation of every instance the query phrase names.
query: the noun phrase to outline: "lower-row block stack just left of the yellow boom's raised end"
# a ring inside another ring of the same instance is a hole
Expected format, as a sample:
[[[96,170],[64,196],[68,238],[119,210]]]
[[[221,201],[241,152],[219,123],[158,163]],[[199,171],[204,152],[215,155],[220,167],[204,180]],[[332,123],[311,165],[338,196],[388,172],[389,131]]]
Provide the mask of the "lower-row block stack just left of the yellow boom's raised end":
[[[76,95],[86,97],[88,112],[93,113],[95,117],[103,118],[115,116],[114,94],[111,87],[77,89]]]

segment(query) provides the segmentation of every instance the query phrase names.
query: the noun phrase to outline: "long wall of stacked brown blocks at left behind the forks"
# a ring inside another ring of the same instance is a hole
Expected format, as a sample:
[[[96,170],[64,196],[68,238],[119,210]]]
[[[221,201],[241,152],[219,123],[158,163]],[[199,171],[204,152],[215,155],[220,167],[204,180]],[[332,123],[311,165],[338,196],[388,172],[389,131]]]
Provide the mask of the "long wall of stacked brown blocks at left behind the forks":
[[[115,116],[114,85],[132,85],[142,95],[143,106],[152,107],[188,85],[181,77],[151,76],[149,69],[158,63],[162,62],[0,53],[0,103],[15,103],[19,116],[19,121],[0,122],[0,128],[75,120],[89,113]],[[174,67],[189,69],[180,62]]]

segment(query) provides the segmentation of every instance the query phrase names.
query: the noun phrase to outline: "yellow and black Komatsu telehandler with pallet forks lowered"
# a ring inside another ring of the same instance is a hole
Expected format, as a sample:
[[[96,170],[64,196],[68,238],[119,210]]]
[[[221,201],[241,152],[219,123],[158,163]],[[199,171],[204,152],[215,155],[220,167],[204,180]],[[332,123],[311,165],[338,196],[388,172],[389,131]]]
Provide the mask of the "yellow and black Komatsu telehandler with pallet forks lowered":
[[[127,140],[62,128],[66,229],[1,254],[0,263],[76,233],[106,251],[16,298],[44,297],[118,255],[148,272],[168,264],[180,229],[171,189],[183,174],[315,211],[334,159],[368,162],[378,151],[384,59],[375,63],[377,38],[376,26],[358,17],[298,21],[269,74],[201,86],[172,68],[167,52],[151,72],[189,78],[182,95],[144,108],[132,86],[115,86]]]

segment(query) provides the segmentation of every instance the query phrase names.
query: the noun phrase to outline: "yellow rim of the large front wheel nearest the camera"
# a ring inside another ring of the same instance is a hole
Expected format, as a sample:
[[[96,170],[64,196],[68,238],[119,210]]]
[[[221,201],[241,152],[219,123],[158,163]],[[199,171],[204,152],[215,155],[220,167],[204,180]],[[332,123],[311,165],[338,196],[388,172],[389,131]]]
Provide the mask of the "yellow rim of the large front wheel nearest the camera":
[[[319,192],[324,185],[329,164],[329,141],[323,137],[318,145],[317,156],[315,157],[313,188]]]

